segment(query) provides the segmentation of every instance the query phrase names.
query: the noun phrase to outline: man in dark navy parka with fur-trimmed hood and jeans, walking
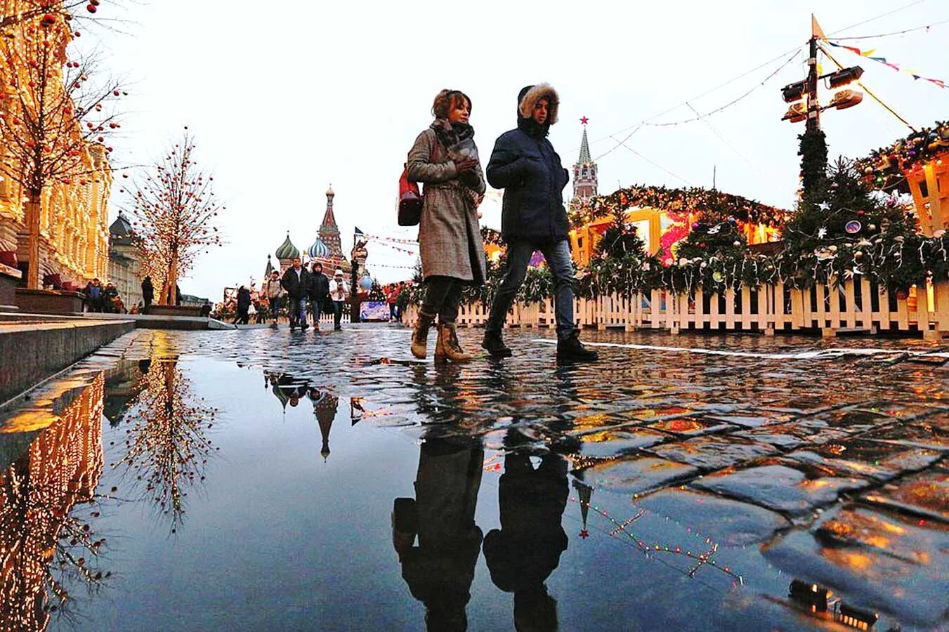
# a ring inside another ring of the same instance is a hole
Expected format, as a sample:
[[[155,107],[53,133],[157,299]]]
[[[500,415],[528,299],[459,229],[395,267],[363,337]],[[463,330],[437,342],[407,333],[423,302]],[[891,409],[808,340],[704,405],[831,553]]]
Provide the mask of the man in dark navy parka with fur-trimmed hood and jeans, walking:
[[[573,260],[563,190],[569,176],[547,139],[557,122],[559,98],[549,84],[528,85],[517,96],[517,129],[494,143],[488,182],[504,189],[501,236],[507,242],[508,270],[494,298],[481,346],[495,357],[511,355],[501,328],[518,288],[524,283],[530,256],[541,251],[554,278],[557,314],[557,357],[596,360],[597,353],[580,343],[573,322]]]

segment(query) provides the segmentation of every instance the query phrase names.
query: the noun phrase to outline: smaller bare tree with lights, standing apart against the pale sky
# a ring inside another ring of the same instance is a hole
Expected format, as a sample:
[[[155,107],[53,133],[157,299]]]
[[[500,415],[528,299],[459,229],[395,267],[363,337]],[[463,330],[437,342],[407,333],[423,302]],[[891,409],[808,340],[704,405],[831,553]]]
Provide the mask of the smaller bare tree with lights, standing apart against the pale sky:
[[[198,168],[194,154],[195,137],[185,127],[180,142],[144,180],[126,187],[148,271],[161,282],[159,305],[174,303],[178,277],[194,267],[199,254],[221,245],[214,224],[226,207],[214,198],[214,176]]]

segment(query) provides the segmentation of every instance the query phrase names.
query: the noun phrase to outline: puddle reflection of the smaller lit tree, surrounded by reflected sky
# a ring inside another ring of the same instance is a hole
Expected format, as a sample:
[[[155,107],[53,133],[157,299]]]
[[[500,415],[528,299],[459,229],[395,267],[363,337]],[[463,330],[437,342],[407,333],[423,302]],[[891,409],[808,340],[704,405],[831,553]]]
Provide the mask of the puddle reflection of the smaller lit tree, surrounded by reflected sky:
[[[214,451],[205,433],[214,425],[217,409],[195,397],[173,360],[152,362],[140,386],[126,416],[133,425],[121,463],[135,474],[133,484],[142,498],[170,516],[174,533],[184,519],[187,490],[204,479]]]

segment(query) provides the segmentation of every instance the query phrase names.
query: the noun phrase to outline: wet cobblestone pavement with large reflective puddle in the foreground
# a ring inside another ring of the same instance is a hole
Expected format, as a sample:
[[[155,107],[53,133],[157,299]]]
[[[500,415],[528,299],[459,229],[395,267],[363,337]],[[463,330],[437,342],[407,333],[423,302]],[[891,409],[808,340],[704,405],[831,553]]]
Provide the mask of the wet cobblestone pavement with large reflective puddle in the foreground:
[[[601,362],[527,330],[456,366],[389,325],[129,334],[0,425],[7,511],[100,389],[68,496],[97,535],[30,603],[65,560],[90,590],[49,622],[81,629],[946,629],[945,348],[585,338]]]

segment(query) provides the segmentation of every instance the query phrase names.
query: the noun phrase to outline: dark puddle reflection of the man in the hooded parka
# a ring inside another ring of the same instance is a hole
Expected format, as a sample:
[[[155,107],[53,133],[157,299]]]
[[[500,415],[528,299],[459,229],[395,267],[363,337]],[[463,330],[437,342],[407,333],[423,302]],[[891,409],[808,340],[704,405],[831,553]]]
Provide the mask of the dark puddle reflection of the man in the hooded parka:
[[[534,470],[530,456],[507,455],[497,495],[501,529],[484,538],[494,586],[514,593],[516,630],[556,630],[557,602],[544,582],[567,549],[567,461],[545,455]]]

